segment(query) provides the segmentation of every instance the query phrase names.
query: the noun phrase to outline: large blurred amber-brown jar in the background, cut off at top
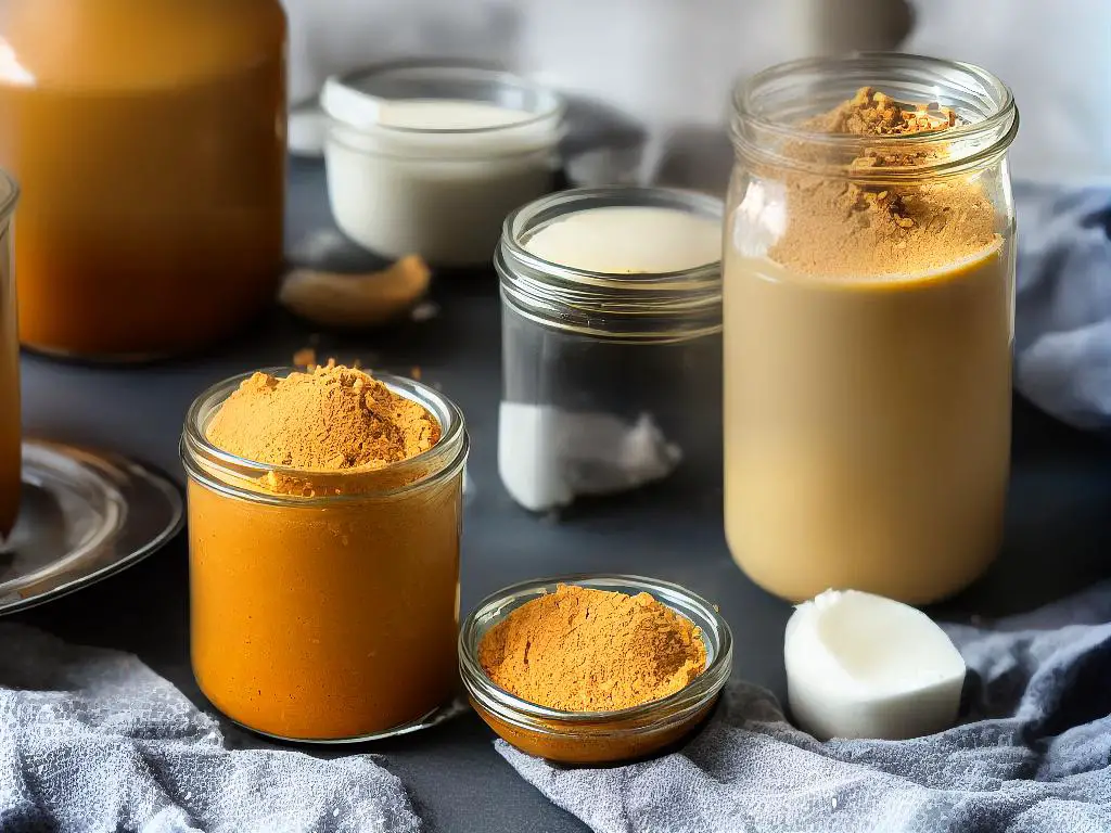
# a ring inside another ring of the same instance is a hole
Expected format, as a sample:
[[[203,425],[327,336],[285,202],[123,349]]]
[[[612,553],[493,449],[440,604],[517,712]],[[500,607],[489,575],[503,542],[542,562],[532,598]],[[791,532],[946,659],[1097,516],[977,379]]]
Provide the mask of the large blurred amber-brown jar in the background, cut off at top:
[[[8,0],[0,165],[23,187],[20,335],[132,360],[230,334],[282,259],[278,0]]]

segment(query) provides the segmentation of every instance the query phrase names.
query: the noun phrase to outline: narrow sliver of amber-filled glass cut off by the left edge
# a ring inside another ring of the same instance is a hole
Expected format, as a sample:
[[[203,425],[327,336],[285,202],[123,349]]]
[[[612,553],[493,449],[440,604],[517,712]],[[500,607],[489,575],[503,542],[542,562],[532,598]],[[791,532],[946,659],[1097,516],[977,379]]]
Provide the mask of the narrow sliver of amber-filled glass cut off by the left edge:
[[[19,332],[11,269],[12,213],[19,188],[0,171],[0,550],[19,511],[21,431]]]

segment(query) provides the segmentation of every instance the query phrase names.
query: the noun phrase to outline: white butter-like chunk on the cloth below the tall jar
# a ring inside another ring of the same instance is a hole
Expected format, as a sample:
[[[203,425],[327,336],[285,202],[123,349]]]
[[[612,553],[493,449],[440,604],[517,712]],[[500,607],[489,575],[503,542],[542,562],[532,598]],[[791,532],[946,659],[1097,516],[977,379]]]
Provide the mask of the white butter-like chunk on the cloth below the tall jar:
[[[820,740],[904,740],[950,727],[964,660],[924,613],[855,590],[799,605],[783,644],[798,725]]]

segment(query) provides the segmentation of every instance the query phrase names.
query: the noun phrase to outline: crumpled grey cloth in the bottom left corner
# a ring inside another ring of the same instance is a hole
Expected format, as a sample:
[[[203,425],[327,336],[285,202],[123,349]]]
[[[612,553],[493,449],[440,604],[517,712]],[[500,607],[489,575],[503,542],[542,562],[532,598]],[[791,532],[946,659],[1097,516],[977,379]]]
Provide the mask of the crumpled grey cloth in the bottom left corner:
[[[420,831],[368,755],[229,751],[137,658],[0,625],[3,833]]]

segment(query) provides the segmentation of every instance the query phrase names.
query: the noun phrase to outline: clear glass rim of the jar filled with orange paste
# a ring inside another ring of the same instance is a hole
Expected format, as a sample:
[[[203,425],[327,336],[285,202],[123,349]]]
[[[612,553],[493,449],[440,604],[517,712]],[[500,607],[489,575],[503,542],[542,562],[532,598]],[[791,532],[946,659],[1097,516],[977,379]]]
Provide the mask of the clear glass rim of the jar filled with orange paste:
[[[393,373],[377,373],[370,370],[363,372],[373,379],[382,382],[393,393],[404,397],[411,402],[423,407],[439,423],[440,439],[428,451],[416,456],[377,469],[350,469],[340,472],[321,472],[312,469],[297,469],[293,466],[277,465],[272,463],[261,463],[256,460],[248,460],[212,444],[204,434],[206,425],[201,425],[202,419],[211,413],[212,407],[222,403],[239,385],[250,379],[256,373],[268,373],[270,375],[288,375],[292,372],[304,372],[303,369],[292,367],[261,368],[259,370],[239,373],[217,382],[202,391],[190,404],[186,414],[186,422],[179,443],[179,452],[186,473],[191,480],[196,480],[206,486],[224,494],[242,498],[261,503],[280,503],[298,505],[319,505],[328,503],[347,503],[352,501],[367,500],[368,498],[389,496],[426,485],[429,481],[454,474],[461,471],[470,450],[470,439],[467,433],[466,420],[460,408],[448,397],[443,395],[434,388],[419,382],[416,379],[396,375]],[[392,489],[362,490],[343,494],[302,495],[287,494],[282,492],[268,492],[263,490],[248,489],[237,485],[227,480],[221,480],[206,471],[198,462],[203,456],[204,461],[222,472],[232,473],[236,481],[251,482],[258,481],[268,474],[280,474],[294,480],[317,480],[339,481],[347,476],[359,476],[373,479],[376,474],[397,475],[399,472],[413,472],[411,482],[403,483]],[[441,462],[442,465],[436,465]],[[420,476],[423,474],[423,476]]]

